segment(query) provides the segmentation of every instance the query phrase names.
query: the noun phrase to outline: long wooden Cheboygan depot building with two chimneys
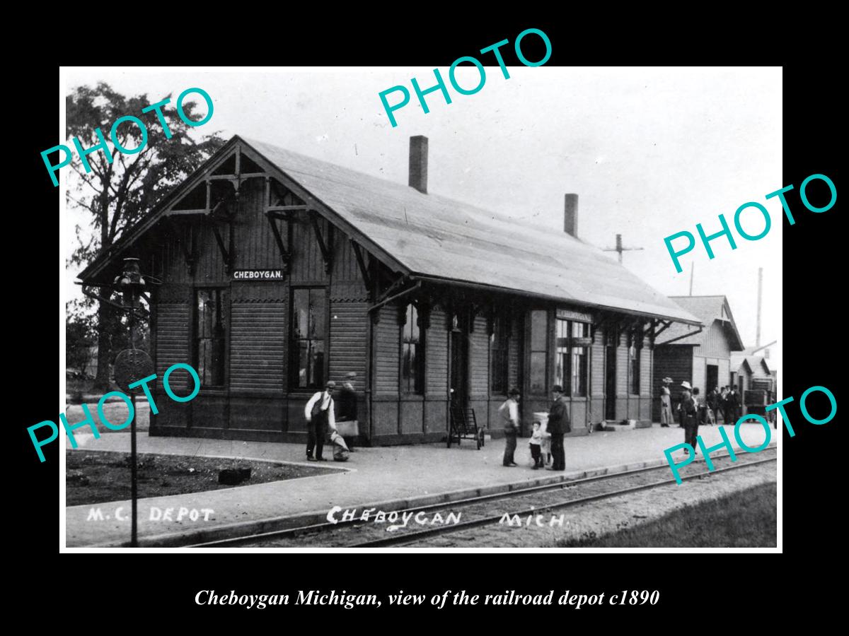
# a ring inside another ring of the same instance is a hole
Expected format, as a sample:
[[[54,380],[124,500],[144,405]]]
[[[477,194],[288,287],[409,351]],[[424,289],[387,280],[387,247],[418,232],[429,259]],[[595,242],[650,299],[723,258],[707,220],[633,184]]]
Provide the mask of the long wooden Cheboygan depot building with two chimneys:
[[[513,386],[525,431],[554,384],[573,432],[651,420],[655,338],[700,320],[576,237],[576,195],[553,232],[428,193],[425,137],[409,163],[402,185],[233,137],[82,272],[141,259],[157,376],[200,375],[187,404],[157,382],[151,435],[305,440],[351,371],[362,444],[440,441],[452,404],[498,434]]]

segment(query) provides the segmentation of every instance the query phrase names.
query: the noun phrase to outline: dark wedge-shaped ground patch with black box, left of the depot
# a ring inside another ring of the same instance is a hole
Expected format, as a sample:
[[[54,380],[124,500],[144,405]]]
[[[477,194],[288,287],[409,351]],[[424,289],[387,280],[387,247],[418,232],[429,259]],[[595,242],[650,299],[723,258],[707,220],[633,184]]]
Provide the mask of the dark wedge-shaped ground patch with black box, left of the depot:
[[[65,460],[65,505],[130,499],[129,453],[66,450]],[[218,483],[218,471],[225,468],[250,468],[250,479],[240,486],[334,472],[318,466],[152,453],[140,453],[137,466],[139,498],[232,488]]]

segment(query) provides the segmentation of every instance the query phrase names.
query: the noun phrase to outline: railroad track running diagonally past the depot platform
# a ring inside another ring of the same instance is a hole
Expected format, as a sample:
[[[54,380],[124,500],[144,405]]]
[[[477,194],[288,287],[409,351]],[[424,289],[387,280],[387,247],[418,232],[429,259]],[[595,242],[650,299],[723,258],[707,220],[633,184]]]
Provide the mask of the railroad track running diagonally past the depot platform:
[[[766,456],[771,455],[771,456]],[[767,462],[777,460],[776,447],[770,446],[756,455],[761,459],[748,459],[755,455],[746,454],[738,455],[735,463],[729,462],[728,454],[711,456],[714,465],[717,466],[713,471],[693,471],[696,465],[704,465],[704,459],[699,458],[687,466],[682,473],[682,480],[688,481],[700,479],[701,477],[709,477],[718,473],[733,471],[747,466],[756,466]],[[395,532],[387,535],[386,527],[391,526],[391,523],[375,524],[373,520],[366,522],[359,518],[349,521],[339,521],[336,523],[318,523],[303,527],[293,527],[283,530],[276,530],[269,533],[256,533],[245,537],[220,539],[202,544],[193,544],[186,547],[189,548],[217,548],[217,547],[238,547],[253,544],[254,546],[285,547],[287,544],[291,546],[302,545],[304,538],[311,538],[310,543],[316,543],[317,540],[325,545],[324,539],[328,540],[327,545],[349,548],[378,548],[391,545],[402,545],[418,542],[425,538],[432,538],[441,534],[458,533],[464,530],[469,530],[474,527],[487,526],[498,523],[503,520],[504,512],[499,510],[497,515],[491,514],[486,510],[486,505],[493,501],[510,500],[511,505],[516,503],[525,503],[522,507],[511,509],[507,514],[510,518],[514,516],[536,515],[545,510],[559,510],[577,505],[587,504],[600,499],[609,499],[622,494],[636,493],[641,490],[649,490],[651,488],[660,488],[662,486],[675,484],[674,478],[657,479],[654,473],[669,471],[669,466],[649,466],[638,468],[630,471],[621,471],[615,473],[607,473],[604,475],[596,475],[593,477],[583,477],[581,479],[573,479],[569,481],[546,483],[540,486],[531,486],[529,488],[520,488],[511,490],[506,493],[487,494],[477,497],[469,497],[467,499],[458,499],[455,501],[440,502],[431,505],[415,506],[403,510],[396,510],[398,518],[401,519],[404,513],[428,513],[434,510],[445,510],[450,508],[452,511],[460,510],[463,515],[473,515],[475,518],[456,522],[452,524],[439,525],[434,527],[426,527],[420,529],[410,529],[412,526],[397,526]],[[636,482],[636,483],[635,483]],[[560,499],[559,496],[566,491],[570,494],[567,499]],[[554,496],[554,499],[552,498]],[[577,495],[577,496],[576,496]],[[514,501],[518,499],[519,501]],[[358,510],[358,508],[357,508]],[[367,535],[363,538],[361,535]],[[368,537],[371,535],[371,538]],[[299,539],[301,541],[299,542]]]

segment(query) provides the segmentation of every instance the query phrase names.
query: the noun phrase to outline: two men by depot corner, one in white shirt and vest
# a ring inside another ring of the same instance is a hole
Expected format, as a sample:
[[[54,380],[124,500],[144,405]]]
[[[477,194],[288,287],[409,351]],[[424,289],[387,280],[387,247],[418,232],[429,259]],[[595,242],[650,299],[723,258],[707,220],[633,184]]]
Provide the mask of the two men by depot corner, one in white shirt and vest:
[[[357,374],[351,371],[346,375],[346,382],[342,384],[339,395],[339,418],[336,417],[336,401],[333,393],[336,382],[330,380],[324,385],[323,391],[318,391],[306,403],[304,416],[306,417],[306,460],[326,461],[323,456],[324,442],[329,435],[330,444],[333,444],[333,459],[335,461],[346,461],[348,453],[351,452],[352,439],[357,436],[357,391],[354,390],[353,382]],[[338,424],[345,423],[344,433],[340,432]],[[346,437],[348,441],[346,441]],[[313,455],[313,452],[315,455]]]

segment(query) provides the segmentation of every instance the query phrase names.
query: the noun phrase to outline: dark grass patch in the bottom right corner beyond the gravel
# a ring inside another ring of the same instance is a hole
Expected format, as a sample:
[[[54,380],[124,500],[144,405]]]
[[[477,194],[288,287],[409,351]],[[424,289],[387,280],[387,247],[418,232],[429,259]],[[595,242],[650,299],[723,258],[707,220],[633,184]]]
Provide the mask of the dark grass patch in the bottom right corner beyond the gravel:
[[[775,483],[687,505],[616,533],[559,541],[558,548],[774,548]]]

